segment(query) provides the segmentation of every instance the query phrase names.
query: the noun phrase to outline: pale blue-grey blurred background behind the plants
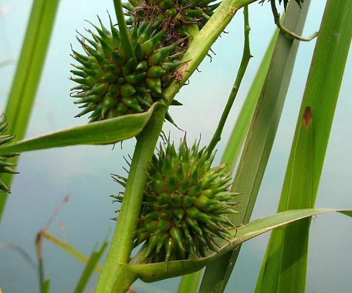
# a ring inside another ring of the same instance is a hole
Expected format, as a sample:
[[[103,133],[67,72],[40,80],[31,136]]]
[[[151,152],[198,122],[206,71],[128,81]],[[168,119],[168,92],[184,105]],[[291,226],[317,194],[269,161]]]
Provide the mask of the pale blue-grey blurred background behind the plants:
[[[317,30],[323,13],[322,0],[312,0],[304,35]],[[0,18],[0,63],[14,63],[0,68],[0,109],[4,108],[10,89],[15,63],[21,50],[23,35],[32,1],[1,0],[0,7],[7,11]],[[70,76],[70,43],[75,48],[75,29],[83,30],[85,19],[96,21],[99,14],[107,21],[106,10],[113,15],[112,0],[85,1],[61,0],[52,40],[41,80],[27,137],[45,132],[84,124],[86,117],[73,118],[77,108],[69,97],[72,86]],[[253,3],[249,7],[251,59],[244,76],[238,98],[231,111],[218,148],[222,152],[241,109],[245,94],[254,78],[265,48],[274,31],[269,4]],[[184,106],[172,108],[176,123],[187,130],[188,139],[202,134],[202,142],[209,142],[217,126],[223,106],[232,87],[242,56],[242,13],[238,13],[213,46],[217,56],[209,63],[206,58],[199,66],[191,83],[181,89],[177,100]],[[297,114],[305,87],[310,59],[315,41],[301,43],[295,64],[286,104],[272,155],[260,189],[253,219],[274,213],[277,209],[286,162],[293,137]],[[350,51],[351,52],[351,51]],[[330,135],[326,162],[321,178],[316,207],[352,208],[352,58],[346,64],[335,120]],[[172,138],[183,135],[175,127],[166,124]],[[43,228],[52,211],[65,194],[71,199],[56,217],[51,231],[60,235],[59,226],[65,227],[69,243],[89,254],[101,241],[109,228],[114,226],[109,218],[117,206],[112,206],[110,194],[120,188],[110,179],[110,173],[123,173],[122,155],[132,154],[134,140],[123,143],[123,149],[111,146],[75,146],[35,151],[21,155],[12,185],[12,194],[0,226],[0,242],[21,245],[35,259],[34,238]],[[219,160],[219,157],[217,158]],[[342,215],[322,215],[312,223],[308,265],[307,292],[349,292],[351,280],[351,222]],[[346,233],[347,232],[347,233]],[[228,293],[252,292],[264,255],[269,234],[257,237],[242,247]],[[83,266],[51,244],[44,243],[46,276],[50,278],[52,293],[71,292],[83,270]],[[90,283],[93,288],[97,275]],[[177,279],[155,284],[158,288],[176,292]],[[4,293],[37,292],[37,275],[23,259],[13,251],[0,250],[0,286]],[[139,283],[141,284],[141,283]],[[141,285],[140,285],[141,286]],[[140,286],[138,293],[148,292]],[[162,292],[162,291],[160,291]]]

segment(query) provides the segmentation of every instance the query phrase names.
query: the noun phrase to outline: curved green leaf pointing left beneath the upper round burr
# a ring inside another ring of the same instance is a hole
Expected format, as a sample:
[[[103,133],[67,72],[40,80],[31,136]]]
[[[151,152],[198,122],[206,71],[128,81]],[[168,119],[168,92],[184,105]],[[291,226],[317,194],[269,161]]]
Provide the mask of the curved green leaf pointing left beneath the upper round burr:
[[[74,126],[2,146],[0,147],[0,155],[59,146],[117,143],[139,134],[152,116],[154,109],[160,106],[165,105],[157,102],[147,112],[141,114],[125,115],[86,125]]]

